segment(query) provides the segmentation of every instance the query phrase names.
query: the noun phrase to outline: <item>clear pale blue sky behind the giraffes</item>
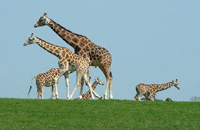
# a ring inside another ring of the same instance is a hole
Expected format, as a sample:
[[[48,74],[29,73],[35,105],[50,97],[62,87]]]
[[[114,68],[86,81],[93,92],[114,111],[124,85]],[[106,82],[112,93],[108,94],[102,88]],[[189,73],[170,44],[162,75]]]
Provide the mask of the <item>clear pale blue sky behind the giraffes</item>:
[[[38,45],[23,46],[31,33],[73,51],[49,27],[34,28],[43,15],[72,32],[85,35],[112,54],[114,99],[134,100],[139,83],[162,84],[178,79],[175,87],[159,92],[157,99],[190,101],[200,96],[199,0],[0,0],[0,97],[37,98],[32,77],[58,67],[58,59]],[[106,79],[91,68],[92,81]],[[75,87],[70,75],[70,91]],[[84,91],[88,87],[84,86]],[[104,94],[105,86],[96,92]],[[66,99],[64,77],[58,91]],[[74,98],[79,94],[77,90]],[[44,89],[44,98],[51,88]]]

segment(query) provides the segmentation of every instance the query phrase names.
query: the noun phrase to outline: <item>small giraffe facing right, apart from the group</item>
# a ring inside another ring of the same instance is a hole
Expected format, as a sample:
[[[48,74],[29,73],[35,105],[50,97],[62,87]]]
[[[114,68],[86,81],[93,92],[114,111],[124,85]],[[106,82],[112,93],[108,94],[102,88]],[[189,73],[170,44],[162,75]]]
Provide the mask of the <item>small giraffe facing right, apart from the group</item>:
[[[136,86],[137,94],[135,96],[135,99],[141,101],[140,97],[144,95],[146,100],[154,101],[157,92],[168,89],[171,86],[175,86],[177,89],[180,89],[178,84],[178,79],[176,79],[176,81],[172,80],[171,82],[168,82],[166,84],[140,83]]]

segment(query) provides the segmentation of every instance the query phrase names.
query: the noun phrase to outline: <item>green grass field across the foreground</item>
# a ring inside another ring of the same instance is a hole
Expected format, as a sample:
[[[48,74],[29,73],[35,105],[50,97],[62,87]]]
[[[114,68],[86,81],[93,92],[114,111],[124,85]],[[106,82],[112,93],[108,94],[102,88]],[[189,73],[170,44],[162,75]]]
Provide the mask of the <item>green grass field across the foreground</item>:
[[[1,130],[199,130],[200,102],[0,99]]]

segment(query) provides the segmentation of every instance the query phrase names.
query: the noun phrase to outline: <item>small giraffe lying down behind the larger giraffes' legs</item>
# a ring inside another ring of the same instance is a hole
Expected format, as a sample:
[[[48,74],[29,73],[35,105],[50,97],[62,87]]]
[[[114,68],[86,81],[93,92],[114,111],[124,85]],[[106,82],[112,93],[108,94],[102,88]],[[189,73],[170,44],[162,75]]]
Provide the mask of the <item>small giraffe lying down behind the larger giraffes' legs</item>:
[[[97,85],[104,85],[104,83],[97,77],[94,81],[94,83],[92,84],[92,89],[95,90]],[[91,93],[90,91],[87,91],[86,93],[82,94],[81,96],[79,96],[80,99],[91,99]],[[79,99],[79,98],[75,98],[75,99]]]

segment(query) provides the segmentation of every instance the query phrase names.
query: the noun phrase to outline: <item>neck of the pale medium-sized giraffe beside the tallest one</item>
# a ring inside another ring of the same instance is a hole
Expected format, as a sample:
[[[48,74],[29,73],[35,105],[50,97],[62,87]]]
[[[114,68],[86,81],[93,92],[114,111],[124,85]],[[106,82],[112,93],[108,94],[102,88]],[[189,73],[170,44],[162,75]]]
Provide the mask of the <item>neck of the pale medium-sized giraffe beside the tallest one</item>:
[[[36,37],[38,42],[37,44],[42,47],[44,50],[48,51],[49,53],[55,55],[56,57],[60,58],[61,54],[60,54],[60,50],[62,50],[61,47],[59,46],[55,46],[51,43],[48,43],[38,37]]]

